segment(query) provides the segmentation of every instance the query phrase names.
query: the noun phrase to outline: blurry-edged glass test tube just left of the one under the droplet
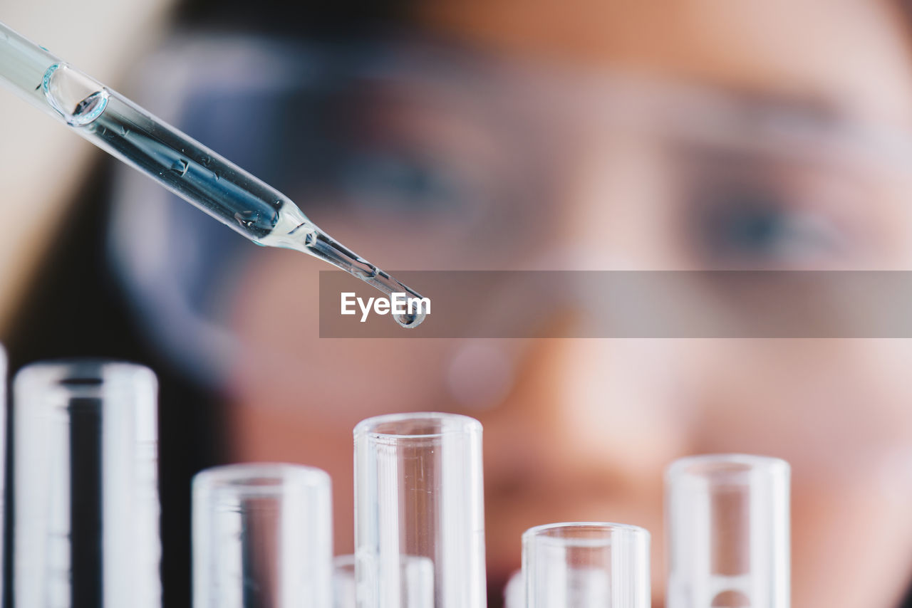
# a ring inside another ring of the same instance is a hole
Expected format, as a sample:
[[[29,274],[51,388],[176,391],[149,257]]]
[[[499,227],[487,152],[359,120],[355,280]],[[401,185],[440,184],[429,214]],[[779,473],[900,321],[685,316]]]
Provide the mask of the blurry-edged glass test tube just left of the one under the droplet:
[[[194,608],[331,608],[329,476],[292,464],[193,479]]]

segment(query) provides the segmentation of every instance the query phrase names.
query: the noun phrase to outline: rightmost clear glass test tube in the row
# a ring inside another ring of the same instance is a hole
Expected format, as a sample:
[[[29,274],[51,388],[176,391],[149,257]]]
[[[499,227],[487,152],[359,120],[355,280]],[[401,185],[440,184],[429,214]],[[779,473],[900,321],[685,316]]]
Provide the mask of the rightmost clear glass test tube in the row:
[[[788,463],[741,454],[666,474],[668,608],[789,608]]]

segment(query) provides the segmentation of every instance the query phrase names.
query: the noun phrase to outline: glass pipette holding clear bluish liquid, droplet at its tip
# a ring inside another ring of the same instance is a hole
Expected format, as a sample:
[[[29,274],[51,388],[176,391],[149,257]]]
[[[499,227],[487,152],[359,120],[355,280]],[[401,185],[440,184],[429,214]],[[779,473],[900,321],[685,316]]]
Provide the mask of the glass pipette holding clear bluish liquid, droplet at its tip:
[[[281,192],[3,23],[0,83],[251,241],[310,253],[384,294],[420,298],[320,230]],[[418,308],[396,321],[419,325]]]

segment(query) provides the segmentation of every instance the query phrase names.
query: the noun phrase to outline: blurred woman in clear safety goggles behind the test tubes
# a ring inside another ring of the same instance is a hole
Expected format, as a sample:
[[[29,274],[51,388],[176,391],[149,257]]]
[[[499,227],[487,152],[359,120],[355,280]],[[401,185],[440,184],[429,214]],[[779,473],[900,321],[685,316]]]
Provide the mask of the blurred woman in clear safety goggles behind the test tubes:
[[[440,0],[303,20],[220,3],[213,21],[214,6],[183,5],[183,29],[128,94],[384,268],[912,265],[899,3]],[[908,604],[905,341],[320,340],[325,265],[257,249],[112,173],[88,197],[112,201],[108,249],[48,258],[60,281],[42,277],[10,352],[151,360],[166,376],[162,424],[182,429],[188,452],[191,432],[210,442],[175,482],[218,459],[326,469],[348,552],[355,423],[466,413],[485,428],[492,603],[523,530],[613,520],[653,533],[658,606],[663,469],[688,454],[766,454],[793,466],[794,605]],[[105,258],[124,295],[98,286]],[[64,285],[85,275],[100,293],[83,287],[89,299],[61,310]],[[140,335],[148,350],[132,352]],[[168,400],[170,382],[184,398]],[[166,568],[180,564],[167,547]]]

